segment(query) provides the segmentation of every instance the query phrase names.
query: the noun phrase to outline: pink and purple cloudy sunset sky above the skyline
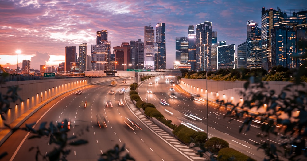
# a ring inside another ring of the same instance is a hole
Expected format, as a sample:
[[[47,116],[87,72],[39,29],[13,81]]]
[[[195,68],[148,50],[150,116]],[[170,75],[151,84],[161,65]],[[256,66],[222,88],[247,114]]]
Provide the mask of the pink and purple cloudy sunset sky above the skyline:
[[[91,54],[96,31],[108,31],[113,47],[130,40],[144,41],[144,26],[165,23],[166,67],[173,68],[175,37],[186,37],[188,26],[212,22],[218,41],[236,46],[246,40],[246,21],[261,26],[262,7],[306,9],[305,0],[0,0],[0,65],[16,68],[22,60],[58,66],[65,46],[84,42]]]

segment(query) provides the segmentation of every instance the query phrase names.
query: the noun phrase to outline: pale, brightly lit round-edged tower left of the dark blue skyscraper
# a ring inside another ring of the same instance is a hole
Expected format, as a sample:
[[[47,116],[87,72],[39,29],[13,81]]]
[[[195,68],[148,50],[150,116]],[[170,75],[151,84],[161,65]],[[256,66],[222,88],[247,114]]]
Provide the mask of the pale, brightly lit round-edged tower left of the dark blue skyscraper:
[[[149,26],[144,26],[144,67],[154,70],[154,29],[150,25],[151,24],[149,24]]]

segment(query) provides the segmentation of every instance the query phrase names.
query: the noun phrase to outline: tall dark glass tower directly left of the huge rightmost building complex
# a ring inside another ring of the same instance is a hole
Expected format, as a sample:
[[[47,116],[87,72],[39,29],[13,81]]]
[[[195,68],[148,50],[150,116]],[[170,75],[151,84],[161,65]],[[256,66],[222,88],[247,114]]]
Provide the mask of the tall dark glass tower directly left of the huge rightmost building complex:
[[[247,69],[262,67],[261,52],[261,29],[258,23],[252,20],[246,22],[247,25]]]

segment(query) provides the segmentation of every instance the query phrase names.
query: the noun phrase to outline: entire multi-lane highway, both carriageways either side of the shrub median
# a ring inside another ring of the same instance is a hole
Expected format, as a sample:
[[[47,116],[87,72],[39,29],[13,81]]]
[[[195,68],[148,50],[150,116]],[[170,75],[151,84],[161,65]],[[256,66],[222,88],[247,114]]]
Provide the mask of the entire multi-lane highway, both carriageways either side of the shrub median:
[[[155,77],[140,83],[138,92],[141,98],[148,103],[152,103],[156,108],[173,123],[190,124],[198,131],[206,132],[206,104],[202,100],[194,100],[189,93],[182,90],[178,85],[171,87],[169,81],[175,82],[177,78]],[[157,83],[156,83],[157,81]],[[68,119],[70,124],[70,136],[77,136],[86,139],[89,143],[81,146],[67,147],[71,150],[68,160],[97,160],[99,155],[113,148],[116,144],[125,144],[126,153],[129,153],[136,160],[203,160],[195,155],[195,151],[167,134],[148,118],[143,116],[135,108],[126,92],[120,94],[122,88],[127,89],[133,82],[132,79],[123,84],[121,80],[115,87],[110,86],[111,81],[106,81],[96,85],[90,85],[76,91],[69,92],[36,112],[25,123],[37,122],[38,128],[42,122],[53,122],[54,124]],[[146,89],[153,93],[147,93]],[[174,89],[174,94],[169,88]],[[109,92],[114,90],[113,92]],[[148,94],[148,95],[147,95]],[[126,97],[125,97],[126,96]],[[162,104],[164,99],[167,104]],[[122,100],[122,101],[121,101]],[[162,103],[161,103],[162,102]],[[86,103],[86,107],[84,107]],[[121,104],[120,104],[121,103]],[[123,103],[123,105],[122,105]],[[227,109],[209,103],[209,137],[216,136],[227,140],[232,147],[244,152],[254,159],[262,160],[263,152],[257,151],[256,143],[267,141],[266,138],[259,139],[255,134],[264,135],[259,130],[259,123],[255,122],[249,131],[243,130],[239,133],[239,127],[243,120],[232,120],[225,118]],[[193,114],[195,117],[186,115]],[[106,120],[107,128],[99,128],[96,122],[96,114],[103,116]],[[137,125],[129,124],[127,120],[133,120]],[[130,126],[128,126],[130,125]],[[21,125],[24,127],[25,124]],[[133,129],[132,129],[133,128]],[[25,131],[17,131],[6,140],[0,147],[0,151],[7,151],[8,155],[4,160],[34,160],[35,149],[29,151],[31,147],[39,147],[41,155],[46,155],[52,150],[48,138],[27,139],[31,134]],[[281,144],[286,140],[271,138],[270,141]]]

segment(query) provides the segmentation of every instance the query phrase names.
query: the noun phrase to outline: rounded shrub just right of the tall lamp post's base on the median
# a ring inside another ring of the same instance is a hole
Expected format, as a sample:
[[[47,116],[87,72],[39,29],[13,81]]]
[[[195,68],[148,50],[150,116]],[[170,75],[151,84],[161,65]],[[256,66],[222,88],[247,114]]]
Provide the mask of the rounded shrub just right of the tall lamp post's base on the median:
[[[220,149],[229,147],[229,143],[223,139],[212,137],[205,143],[205,147],[212,153],[217,154]]]

